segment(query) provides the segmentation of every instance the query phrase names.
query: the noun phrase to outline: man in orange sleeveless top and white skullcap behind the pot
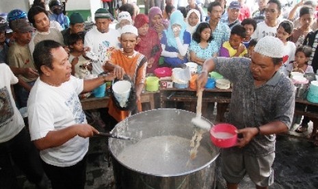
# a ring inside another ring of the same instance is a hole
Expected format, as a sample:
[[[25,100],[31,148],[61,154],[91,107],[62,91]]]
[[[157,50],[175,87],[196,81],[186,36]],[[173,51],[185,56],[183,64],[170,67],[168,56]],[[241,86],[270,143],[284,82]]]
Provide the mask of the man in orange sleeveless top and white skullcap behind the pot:
[[[125,25],[121,29],[121,35],[118,38],[122,49],[116,49],[111,53],[111,60],[105,63],[105,70],[113,71],[119,79],[126,74],[131,78],[136,89],[137,111],[142,111],[140,95],[144,88],[146,80],[147,58],[135,51],[135,46],[140,42],[137,28],[133,25]],[[128,111],[118,110],[113,101],[108,103],[108,113],[116,122],[120,122],[129,116]],[[113,123],[115,124],[115,123]],[[114,126],[114,125],[113,125]]]

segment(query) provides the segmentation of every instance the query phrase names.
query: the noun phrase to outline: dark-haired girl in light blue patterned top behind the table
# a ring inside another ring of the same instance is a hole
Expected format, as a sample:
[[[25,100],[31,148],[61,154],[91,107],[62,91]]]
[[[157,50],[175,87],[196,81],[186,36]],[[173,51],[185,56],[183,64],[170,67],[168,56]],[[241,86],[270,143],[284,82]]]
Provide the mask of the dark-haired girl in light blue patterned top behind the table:
[[[205,60],[217,56],[217,44],[212,39],[209,23],[200,23],[190,43],[190,60],[200,65],[198,66],[198,73],[201,73],[201,65]]]

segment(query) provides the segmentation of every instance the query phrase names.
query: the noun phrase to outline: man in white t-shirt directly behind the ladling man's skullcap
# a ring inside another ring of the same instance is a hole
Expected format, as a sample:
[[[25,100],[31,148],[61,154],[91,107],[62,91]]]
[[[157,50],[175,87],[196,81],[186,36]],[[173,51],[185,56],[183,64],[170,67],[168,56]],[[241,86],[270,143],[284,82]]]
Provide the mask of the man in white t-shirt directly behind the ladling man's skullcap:
[[[282,5],[278,0],[269,0],[265,8],[265,21],[257,23],[257,27],[251,38],[261,39],[265,36],[275,36],[279,25],[278,17]]]

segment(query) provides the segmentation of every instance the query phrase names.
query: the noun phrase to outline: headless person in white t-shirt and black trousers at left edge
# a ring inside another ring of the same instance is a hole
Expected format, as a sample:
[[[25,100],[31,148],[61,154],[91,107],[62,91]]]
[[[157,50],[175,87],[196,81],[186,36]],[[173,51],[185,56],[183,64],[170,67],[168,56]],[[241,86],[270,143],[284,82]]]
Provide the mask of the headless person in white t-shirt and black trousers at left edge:
[[[11,85],[18,83],[9,66],[0,64],[0,186],[16,188],[14,164],[25,173],[37,188],[48,188],[47,177],[40,161],[38,150],[30,140],[23,118],[16,108]]]

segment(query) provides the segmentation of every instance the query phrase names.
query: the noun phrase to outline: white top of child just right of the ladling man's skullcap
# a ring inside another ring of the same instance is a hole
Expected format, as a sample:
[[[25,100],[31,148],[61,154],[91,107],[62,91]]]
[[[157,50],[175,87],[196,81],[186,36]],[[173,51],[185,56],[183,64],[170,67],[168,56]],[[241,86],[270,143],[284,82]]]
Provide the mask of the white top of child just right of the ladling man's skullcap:
[[[287,41],[287,44],[284,45],[284,56],[282,58],[282,66],[280,67],[280,71],[284,73],[284,75],[288,76],[289,71],[287,70],[287,66],[289,65],[289,62],[295,60],[295,51],[296,46],[295,43],[291,41]]]

